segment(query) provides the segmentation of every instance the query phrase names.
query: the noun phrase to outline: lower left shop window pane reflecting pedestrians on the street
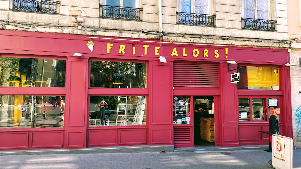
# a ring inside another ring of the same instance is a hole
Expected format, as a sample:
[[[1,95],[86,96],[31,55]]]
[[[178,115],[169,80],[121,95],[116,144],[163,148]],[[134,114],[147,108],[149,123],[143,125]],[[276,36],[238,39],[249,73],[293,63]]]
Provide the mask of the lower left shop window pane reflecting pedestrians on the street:
[[[64,127],[65,96],[0,97],[1,128]]]

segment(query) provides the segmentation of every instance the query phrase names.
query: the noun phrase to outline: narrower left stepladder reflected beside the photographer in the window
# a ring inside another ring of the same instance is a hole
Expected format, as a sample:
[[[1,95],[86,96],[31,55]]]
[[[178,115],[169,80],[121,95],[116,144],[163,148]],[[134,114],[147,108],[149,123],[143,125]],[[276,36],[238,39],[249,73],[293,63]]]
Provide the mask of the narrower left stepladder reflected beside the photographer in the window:
[[[116,126],[125,126],[127,121],[127,96],[118,96]]]

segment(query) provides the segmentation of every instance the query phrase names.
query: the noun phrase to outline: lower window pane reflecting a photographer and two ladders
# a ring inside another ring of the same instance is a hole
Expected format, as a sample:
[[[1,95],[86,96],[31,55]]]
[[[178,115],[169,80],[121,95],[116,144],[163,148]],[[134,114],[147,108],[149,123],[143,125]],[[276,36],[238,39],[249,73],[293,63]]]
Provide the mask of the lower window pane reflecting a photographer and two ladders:
[[[90,96],[90,127],[126,125],[146,125],[146,96]]]

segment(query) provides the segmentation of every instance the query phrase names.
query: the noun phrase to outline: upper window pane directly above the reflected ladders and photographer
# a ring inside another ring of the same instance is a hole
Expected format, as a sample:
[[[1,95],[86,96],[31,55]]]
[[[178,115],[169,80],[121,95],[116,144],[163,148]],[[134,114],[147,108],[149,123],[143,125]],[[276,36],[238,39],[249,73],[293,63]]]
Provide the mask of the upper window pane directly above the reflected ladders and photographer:
[[[91,88],[146,88],[146,63],[91,61]]]

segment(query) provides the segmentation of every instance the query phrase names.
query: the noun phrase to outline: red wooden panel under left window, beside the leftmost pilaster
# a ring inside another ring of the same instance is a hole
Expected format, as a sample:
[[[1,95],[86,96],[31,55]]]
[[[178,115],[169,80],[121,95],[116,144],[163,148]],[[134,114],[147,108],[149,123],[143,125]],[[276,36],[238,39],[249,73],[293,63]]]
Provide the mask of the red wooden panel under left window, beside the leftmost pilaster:
[[[63,131],[31,132],[31,146],[35,147],[62,147]]]

